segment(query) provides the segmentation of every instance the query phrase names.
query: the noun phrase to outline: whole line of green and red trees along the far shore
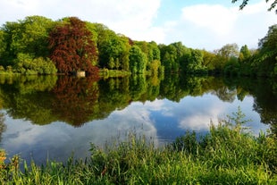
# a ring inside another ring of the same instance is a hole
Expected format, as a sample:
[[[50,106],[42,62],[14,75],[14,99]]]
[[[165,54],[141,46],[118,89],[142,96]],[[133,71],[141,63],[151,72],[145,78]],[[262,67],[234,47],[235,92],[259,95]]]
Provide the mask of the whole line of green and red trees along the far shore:
[[[214,51],[181,42],[169,45],[132,40],[101,23],[43,16],[7,21],[0,28],[0,74],[74,74],[86,71],[160,75],[277,76],[277,25],[259,39],[258,48],[226,44]]]

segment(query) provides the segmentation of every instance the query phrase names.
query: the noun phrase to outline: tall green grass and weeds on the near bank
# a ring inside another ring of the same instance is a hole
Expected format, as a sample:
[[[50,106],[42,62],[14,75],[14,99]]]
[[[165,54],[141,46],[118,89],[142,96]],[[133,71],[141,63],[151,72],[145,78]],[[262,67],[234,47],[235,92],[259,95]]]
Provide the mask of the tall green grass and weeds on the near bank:
[[[113,146],[91,145],[85,160],[66,164],[0,161],[2,184],[277,184],[276,135],[254,137],[243,127],[242,114],[213,123],[206,136],[187,131],[171,144],[155,147],[131,132]],[[4,152],[2,151],[2,158]],[[1,156],[1,155],[0,155]],[[0,158],[1,160],[1,158]]]

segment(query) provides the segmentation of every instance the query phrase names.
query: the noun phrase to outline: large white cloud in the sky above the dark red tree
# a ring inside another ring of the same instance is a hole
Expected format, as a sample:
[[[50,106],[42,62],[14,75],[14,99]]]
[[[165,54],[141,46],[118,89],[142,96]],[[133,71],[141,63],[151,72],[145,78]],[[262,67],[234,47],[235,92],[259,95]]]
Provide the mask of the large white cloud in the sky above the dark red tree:
[[[77,16],[99,22],[117,33],[138,40],[164,40],[163,30],[152,26],[160,0],[3,0],[0,23],[42,15],[53,20]],[[3,16],[4,15],[4,16]]]

